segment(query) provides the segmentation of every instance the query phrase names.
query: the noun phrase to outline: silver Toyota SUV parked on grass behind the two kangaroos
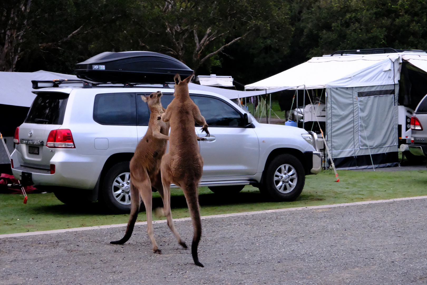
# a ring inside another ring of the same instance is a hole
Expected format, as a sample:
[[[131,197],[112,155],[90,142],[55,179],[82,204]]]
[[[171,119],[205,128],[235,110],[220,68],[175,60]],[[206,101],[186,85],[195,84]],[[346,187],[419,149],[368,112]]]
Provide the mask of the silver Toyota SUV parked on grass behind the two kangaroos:
[[[79,84],[33,91],[37,97],[15,132],[12,172],[22,183],[53,191],[64,203],[99,200],[114,212],[127,212],[129,161],[149,121],[140,95],[160,90],[166,107],[173,85]],[[228,194],[254,185],[275,200],[292,201],[305,175],[320,172],[316,133],[258,123],[219,94],[190,89],[190,96],[211,133],[199,142],[204,160],[200,186]],[[195,129],[203,136],[200,126]]]

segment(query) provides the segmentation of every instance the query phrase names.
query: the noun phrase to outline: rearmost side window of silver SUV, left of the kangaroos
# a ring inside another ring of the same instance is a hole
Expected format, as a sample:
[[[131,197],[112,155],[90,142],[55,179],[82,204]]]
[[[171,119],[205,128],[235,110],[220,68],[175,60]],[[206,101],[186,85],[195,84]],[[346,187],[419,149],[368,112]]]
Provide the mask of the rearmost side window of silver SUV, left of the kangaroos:
[[[95,95],[94,121],[102,125],[136,126],[135,93]]]

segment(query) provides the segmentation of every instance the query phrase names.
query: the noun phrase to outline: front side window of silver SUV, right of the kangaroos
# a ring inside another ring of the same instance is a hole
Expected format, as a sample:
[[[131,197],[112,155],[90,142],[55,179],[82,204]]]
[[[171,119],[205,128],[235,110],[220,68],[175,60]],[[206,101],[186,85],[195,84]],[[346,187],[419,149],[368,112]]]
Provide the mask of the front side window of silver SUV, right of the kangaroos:
[[[190,95],[200,109],[209,126],[237,127],[243,126],[242,115],[226,102],[200,95]]]

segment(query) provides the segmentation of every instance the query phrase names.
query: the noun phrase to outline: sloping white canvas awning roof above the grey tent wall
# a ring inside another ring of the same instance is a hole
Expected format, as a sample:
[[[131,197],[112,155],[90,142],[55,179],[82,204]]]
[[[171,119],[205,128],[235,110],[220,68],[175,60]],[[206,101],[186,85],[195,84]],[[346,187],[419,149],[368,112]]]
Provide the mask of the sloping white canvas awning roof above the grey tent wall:
[[[313,57],[286,71],[245,85],[245,89],[301,90],[395,84],[400,79],[401,55],[387,53]]]

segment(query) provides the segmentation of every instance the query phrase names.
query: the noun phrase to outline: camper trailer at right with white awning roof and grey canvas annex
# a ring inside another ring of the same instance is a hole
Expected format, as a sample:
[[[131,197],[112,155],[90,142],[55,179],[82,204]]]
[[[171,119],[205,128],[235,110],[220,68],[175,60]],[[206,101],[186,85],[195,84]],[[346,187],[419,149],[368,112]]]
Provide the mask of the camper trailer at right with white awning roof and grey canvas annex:
[[[325,167],[331,160],[339,169],[395,166],[399,147],[416,159],[407,144],[410,118],[427,94],[426,51],[337,51],[245,86],[277,88],[298,94],[304,129],[323,124],[330,149]]]

